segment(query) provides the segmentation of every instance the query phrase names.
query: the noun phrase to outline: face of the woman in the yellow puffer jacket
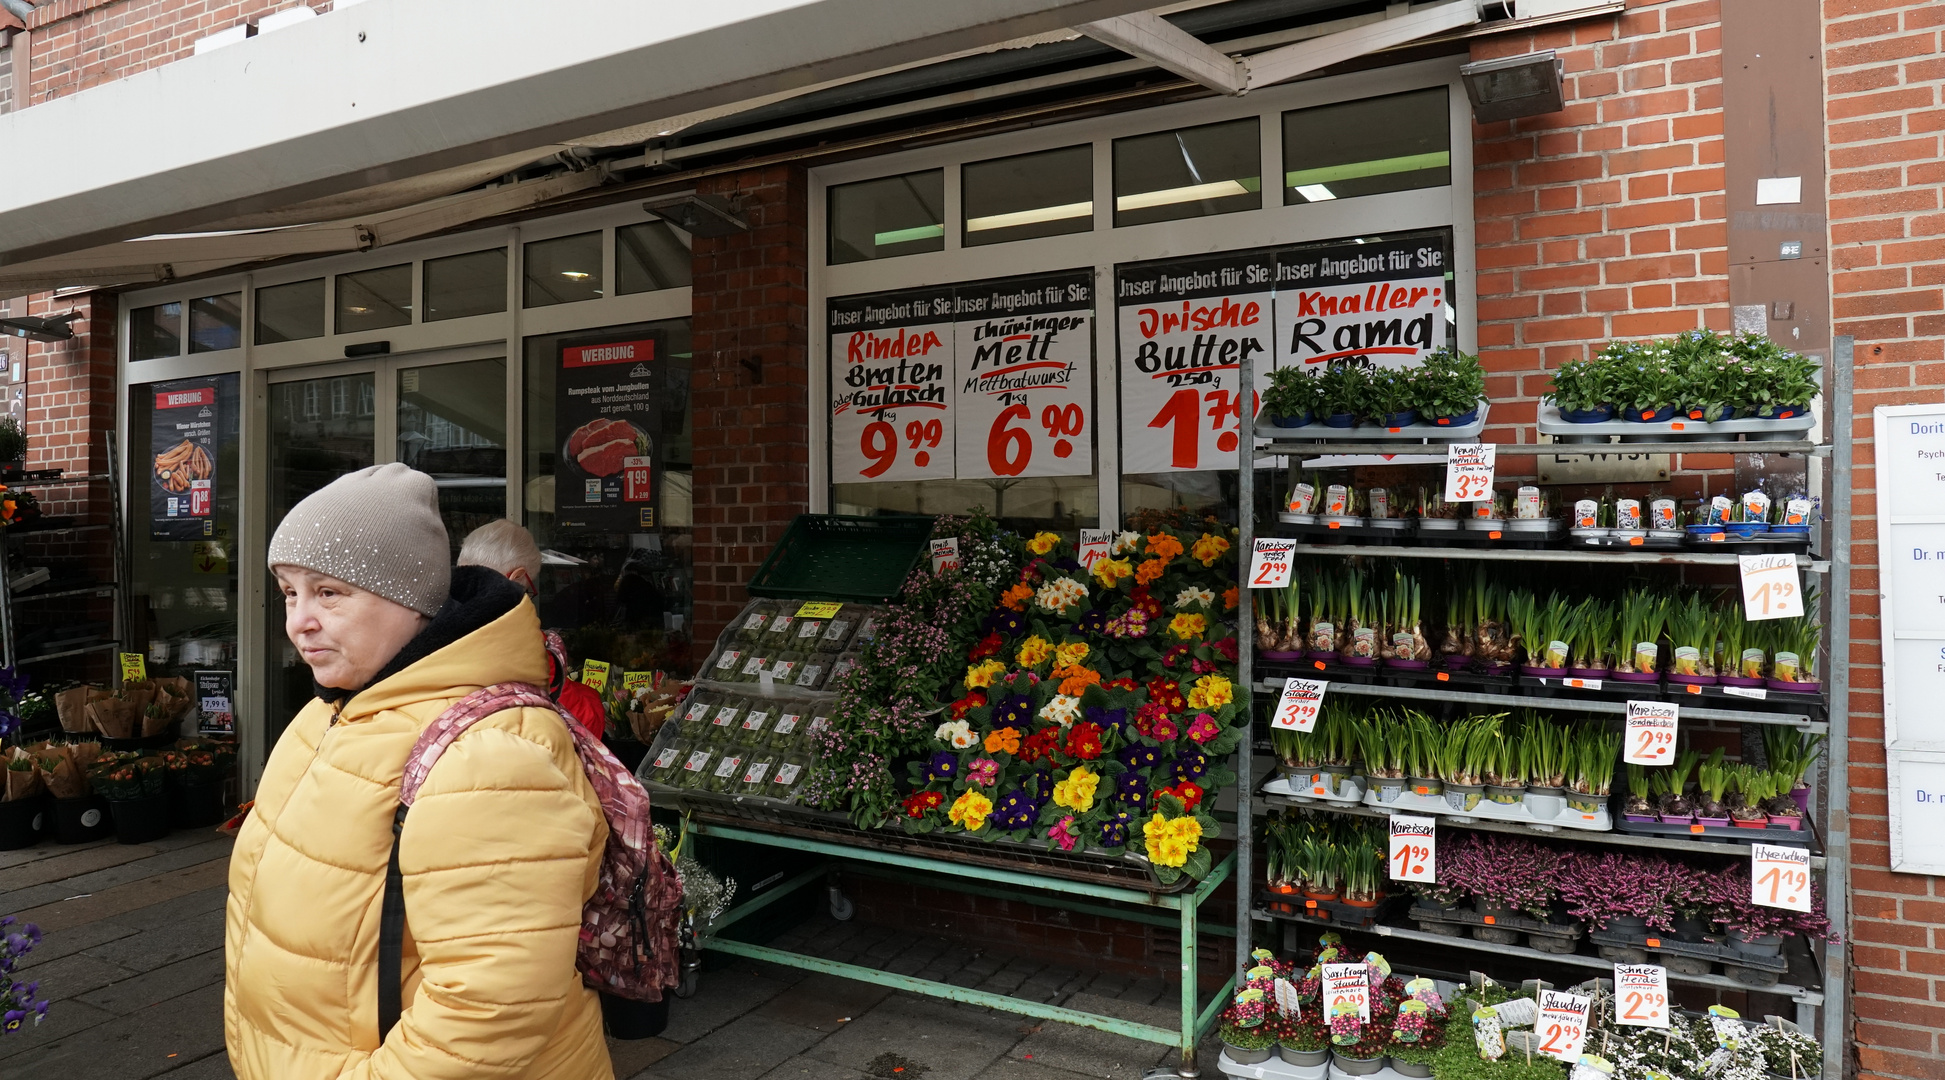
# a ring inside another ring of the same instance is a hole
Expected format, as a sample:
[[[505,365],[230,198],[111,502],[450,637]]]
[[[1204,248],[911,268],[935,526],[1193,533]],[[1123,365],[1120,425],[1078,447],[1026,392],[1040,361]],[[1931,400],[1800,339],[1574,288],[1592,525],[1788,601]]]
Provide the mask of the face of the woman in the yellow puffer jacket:
[[[284,634],[321,687],[362,689],[426,625],[418,611],[329,574],[272,570],[284,590]]]

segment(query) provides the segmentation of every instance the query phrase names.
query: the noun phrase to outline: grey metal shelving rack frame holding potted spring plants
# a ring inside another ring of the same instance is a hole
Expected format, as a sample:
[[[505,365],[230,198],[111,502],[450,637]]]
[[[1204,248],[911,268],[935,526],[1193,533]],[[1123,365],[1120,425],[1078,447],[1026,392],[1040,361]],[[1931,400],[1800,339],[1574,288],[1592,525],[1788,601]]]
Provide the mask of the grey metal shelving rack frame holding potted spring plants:
[[[1752,710],[1752,708],[1690,708],[1684,704],[1684,714],[1698,720],[1719,720],[1735,724],[1789,724],[1809,732],[1828,732],[1828,741],[1824,743],[1824,776],[1822,776],[1822,806],[1824,811],[1819,819],[1813,804],[1811,827],[1815,837],[1822,841],[1821,856],[1813,856],[1813,872],[1824,874],[1824,911],[1830,917],[1830,924],[1838,930],[1846,926],[1846,899],[1850,883],[1850,835],[1848,835],[1848,763],[1850,763],[1850,475],[1852,475],[1852,348],[1854,341],[1850,337],[1838,337],[1832,342],[1830,362],[1824,366],[1824,395],[1822,395],[1822,442],[1809,440],[1776,440],[1776,442],[1630,442],[1630,444],[1500,444],[1505,455],[1519,453],[1599,453],[1601,446],[1624,448],[1626,453],[1799,453],[1805,457],[1817,457],[1824,461],[1822,469],[1822,558],[1805,560],[1803,568],[1811,574],[1821,574],[1826,578],[1826,586],[1821,597],[1821,617],[1824,625],[1824,718],[1803,712],[1776,712],[1776,710]],[[1255,381],[1255,362],[1245,356],[1237,370],[1239,385],[1253,387]],[[1832,420],[1834,418],[1834,420]],[[1241,422],[1237,428],[1237,523],[1239,523],[1239,564],[1247,570],[1249,553],[1255,549],[1256,539],[1256,465],[1264,459],[1276,457],[1299,457],[1299,455],[1350,455],[1350,453],[1424,453],[1424,451],[1443,451],[1443,444],[1398,444],[1398,442],[1375,442],[1375,444],[1354,444],[1354,442],[1293,442],[1280,440],[1266,446],[1256,446],[1256,418],[1253,411],[1241,411]],[[1673,566],[1733,566],[1735,555],[1725,553],[1690,553],[1690,551],[1601,551],[1601,553],[1577,553],[1572,549],[1548,549],[1548,551],[1519,551],[1519,549],[1470,549],[1470,547],[1404,547],[1404,545],[1307,545],[1299,543],[1297,553],[1309,555],[1375,555],[1391,558],[1484,558],[1484,560],[1509,560],[1509,562],[1622,562],[1622,564],[1673,564]],[[1840,580],[1828,582],[1834,574],[1842,574]],[[1241,582],[1239,582],[1241,584]],[[1253,597],[1249,588],[1239,590],[1237,597],[1237,675],[1245,687],[1251,687],[1253,699],[1256,693],[1270,693],[1268,683],[1260,683],[1255,671],[1255,615],[1251,611]],[[1492,695],[1492,693],[1468,693],[1459,689],[1426,689],[1426,687],[1393,687],[1375,683],[1332,683],[1330,693],[1352,693],[1369,697],[1393,697],[1393,699],[1418,699],[1418,701],[1457,701],[1467,704],[1542,704],[1550,710],[1572,710],[1572,712],[1591,712],[1591,714],[1622,714],[1626,706],[1614,701],[1601,699],[1581,699],[1581,697],[1519,697],[1519,695]],[[1251,708],[1251,724],[1255,724],[1255,706]],[[1288,800],[1282,796],[1255,796],[1256,778],[1253,776],[1253,747],[1255,739],[1245,739],[1245,751],[1237,753],[1235,773],[1237,773],[1237,850],[1235,850],[1235,880],[1239,901],[1237,903],[1237,975],[1241,977],[1241,967],[1249,955],[1251,932],[1258,920],[1274,920],[1268,913],[1258,913],[1251,901],[1255,891],[1255,829],[1253,819],[1260,808],[1284,806]],[[1385,815],[1385,811],[1371,808],[1340,808],[1313,804],[1321,810],[1336,810],[1342,813],[1369,813]],[[1523,835],[1544,835],[1554,839],[1572,839],[1581,843],[1607,843],[1624,846],[1653,846],[1661,850],[1682,850],[1682,852],[1723,852],[1733,854],[1741,850],[1733,845],[1714,845],[1706,841],[1682,841],[1682,839],[1657,839],[1630,833],[1544,833],[1538,829],[1500,823],[1500,821],[1451,821],[1447,825],[1484,829],[1484,831],[1507,831]],[[1369,932],[1389,938],[1426,942],[1437,946],[1449,946],[1457,950],[1480,950],[1498,955],[1519,955],[1523,959],[1537,959],[1544,963],[1564,963],[1581,967],[1607,967],[1607,961],[1589,955],[1572,954],[1546,954],[1538,950],[1523,950],[1515,946],[1496,946],[1486,942],[1472,942],[1470,938],[1447,938],[1441,934],[1428,934],[1422,930],[1406,930],[1398,926],[1373,926]],[[1529,955],[1531,954],[1531,955]],[[1811,961],[1821,969],[1821,989],[1819,987],[1749,987],[1719,975],[1682,975],[1669,971],[1669,979],[1688,985],[1706,985],[1717,989],[1735,989],[1749,992],[1784,994],[1795,1000],[1797,1018],[1805,1029],[1813,1029],[1813,1018],[1821,1020],[1821,1041],[1824,1051],[1822,1076],[1824,1080],[1842,1080],[1844,1076],[1844,1047],[1846,1047],[1846,946],[1842,942],[1826,942],[1821,950],[1811,950]],[[1821,1012],[1821,1016],[1817,1016]]]

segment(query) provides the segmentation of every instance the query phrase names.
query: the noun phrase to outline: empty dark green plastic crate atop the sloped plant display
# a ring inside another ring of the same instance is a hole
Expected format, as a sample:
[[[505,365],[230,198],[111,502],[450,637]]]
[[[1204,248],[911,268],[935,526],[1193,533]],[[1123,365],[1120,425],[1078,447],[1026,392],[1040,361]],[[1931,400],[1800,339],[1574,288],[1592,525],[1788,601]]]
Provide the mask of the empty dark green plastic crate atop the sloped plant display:
[[[797,514],[749,580],[749,595],[883,603],[904,588],[930,539],[928,516]]]

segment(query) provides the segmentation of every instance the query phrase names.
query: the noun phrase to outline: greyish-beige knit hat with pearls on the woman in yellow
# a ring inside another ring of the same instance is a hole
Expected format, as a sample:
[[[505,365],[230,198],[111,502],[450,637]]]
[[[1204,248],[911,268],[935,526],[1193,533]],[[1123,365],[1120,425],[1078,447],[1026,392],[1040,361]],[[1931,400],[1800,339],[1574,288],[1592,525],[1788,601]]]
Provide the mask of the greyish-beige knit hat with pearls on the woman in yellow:
[[[393,461],[346,473],[290,508],[270,566],[303,566],[436,615],[451,592],[451,541],[432,477]]]

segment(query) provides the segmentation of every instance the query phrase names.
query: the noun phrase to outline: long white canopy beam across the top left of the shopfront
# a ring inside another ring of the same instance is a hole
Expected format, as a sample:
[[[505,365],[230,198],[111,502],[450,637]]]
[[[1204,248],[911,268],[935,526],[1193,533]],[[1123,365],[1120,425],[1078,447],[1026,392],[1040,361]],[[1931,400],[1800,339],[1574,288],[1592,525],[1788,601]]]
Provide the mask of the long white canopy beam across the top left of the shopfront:
[[[274,210],[1140,10],[368,0],[0,117],[0,265]],[[519,27],[510,47],[508,27]],[[222,115],[183,140],[187,117]],[[80,138],[78,132],[115,132]],[[58,152],[54,152],[58,150]]]

